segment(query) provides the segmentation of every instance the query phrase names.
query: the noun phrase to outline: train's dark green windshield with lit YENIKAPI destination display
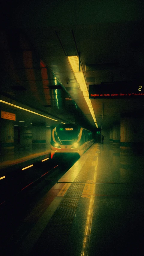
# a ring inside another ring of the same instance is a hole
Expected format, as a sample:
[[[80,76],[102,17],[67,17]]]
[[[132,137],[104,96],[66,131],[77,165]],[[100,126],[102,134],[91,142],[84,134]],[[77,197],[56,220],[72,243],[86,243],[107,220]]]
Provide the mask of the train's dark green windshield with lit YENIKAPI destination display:
[[[77,140],[78,127],[59,127],[58,128],[58,139],[61,141],[73,141]]]

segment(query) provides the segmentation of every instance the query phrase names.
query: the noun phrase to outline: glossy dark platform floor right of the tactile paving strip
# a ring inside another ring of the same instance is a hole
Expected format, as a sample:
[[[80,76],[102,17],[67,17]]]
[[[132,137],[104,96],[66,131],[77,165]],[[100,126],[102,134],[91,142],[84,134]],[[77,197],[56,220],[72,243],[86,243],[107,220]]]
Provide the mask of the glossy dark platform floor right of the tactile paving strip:
[[[108,144],[97,147],[97,174],[89,171],[96,182],[85,183],[88,193],[84,190],[79,200],[63,255],[141,255],[143,157],[120,155],[118,150]]]

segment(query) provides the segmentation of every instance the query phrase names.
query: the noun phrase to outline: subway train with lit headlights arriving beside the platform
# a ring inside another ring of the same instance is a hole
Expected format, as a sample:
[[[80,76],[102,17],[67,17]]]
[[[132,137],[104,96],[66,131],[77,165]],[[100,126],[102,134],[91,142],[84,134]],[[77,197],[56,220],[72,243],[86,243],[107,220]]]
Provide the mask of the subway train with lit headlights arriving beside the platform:
[[[52,130],[51,158],[81,157],[94,142],[93,132],[74,124],[60,124]]]

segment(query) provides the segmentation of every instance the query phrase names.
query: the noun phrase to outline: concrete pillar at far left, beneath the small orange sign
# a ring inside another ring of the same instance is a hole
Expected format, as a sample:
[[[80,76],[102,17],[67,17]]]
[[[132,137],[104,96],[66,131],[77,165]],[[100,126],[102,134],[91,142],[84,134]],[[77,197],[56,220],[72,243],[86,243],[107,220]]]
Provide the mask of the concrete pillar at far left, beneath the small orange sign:
[[[13,121],[0,119],[0,153],[14,154]]]

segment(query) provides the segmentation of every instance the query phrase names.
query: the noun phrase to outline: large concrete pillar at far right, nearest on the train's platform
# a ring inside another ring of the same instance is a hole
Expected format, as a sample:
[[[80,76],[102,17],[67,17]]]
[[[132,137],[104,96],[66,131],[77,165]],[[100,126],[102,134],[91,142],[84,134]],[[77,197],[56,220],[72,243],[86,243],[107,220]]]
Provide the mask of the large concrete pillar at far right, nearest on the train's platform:
[[[143,154],[143,128],[141,117],[121,118],[121,155]]]

